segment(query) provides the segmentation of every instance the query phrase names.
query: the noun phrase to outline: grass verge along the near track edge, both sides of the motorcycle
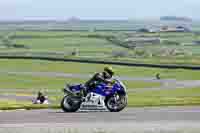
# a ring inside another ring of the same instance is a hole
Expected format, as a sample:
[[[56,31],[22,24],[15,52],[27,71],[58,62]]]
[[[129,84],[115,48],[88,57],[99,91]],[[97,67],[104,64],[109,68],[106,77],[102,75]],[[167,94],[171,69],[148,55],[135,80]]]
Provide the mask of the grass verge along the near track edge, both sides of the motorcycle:
[[[148,106],[199,106],[200,89],[176,89],[157,90],[131,93],[128,95],[128,107],[148,107]],[[0,101],[0,110],[12,109],[47,109],[60,108],[62,95],[50,96],[54,101],[52,105],[33,105],[30,102]]]

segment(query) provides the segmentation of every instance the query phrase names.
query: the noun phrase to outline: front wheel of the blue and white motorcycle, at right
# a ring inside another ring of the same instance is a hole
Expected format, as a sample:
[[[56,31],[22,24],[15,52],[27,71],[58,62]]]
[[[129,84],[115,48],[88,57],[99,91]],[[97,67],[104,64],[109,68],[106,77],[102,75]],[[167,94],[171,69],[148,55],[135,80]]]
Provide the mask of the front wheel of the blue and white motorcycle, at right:
[[[120,112],[127,106],[127,96],[118,95],[119,100],[116,102],[114,96],[105,99],[105,105],[110,112]]]

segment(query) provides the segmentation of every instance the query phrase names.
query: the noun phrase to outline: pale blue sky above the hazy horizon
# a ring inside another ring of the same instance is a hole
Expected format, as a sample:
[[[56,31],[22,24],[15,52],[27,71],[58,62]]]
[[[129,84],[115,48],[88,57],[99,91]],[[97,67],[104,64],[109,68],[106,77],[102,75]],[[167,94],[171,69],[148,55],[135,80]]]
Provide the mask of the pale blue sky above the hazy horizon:
[[[0,0],[0,20],[159,19],[200,20],[200,0]]]

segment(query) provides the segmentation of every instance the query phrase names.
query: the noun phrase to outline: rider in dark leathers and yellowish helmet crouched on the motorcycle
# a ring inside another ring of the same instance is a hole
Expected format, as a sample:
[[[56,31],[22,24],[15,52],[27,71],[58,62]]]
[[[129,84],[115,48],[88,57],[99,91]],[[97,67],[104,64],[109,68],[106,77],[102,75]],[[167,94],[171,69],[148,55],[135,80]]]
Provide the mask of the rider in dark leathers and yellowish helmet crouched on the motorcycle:
[[[112,79],[114,75],[114,70],[112,67],[105,67],[104,71],[101,73],[96,73],[89,81],[85,83],[86,92],[89,89],[95,88],[96,85],[103,82],[106,84],[113,84],[114,81]]]

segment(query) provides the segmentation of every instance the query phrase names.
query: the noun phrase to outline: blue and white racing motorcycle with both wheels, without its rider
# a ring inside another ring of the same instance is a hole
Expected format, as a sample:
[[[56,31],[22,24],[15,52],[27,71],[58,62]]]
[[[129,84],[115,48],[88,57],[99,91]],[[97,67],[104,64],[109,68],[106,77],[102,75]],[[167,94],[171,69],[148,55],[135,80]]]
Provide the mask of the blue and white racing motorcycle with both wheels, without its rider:
[[[119,112],[127,106],[127,92],[125,85],[114,79],[113,85],[101,83],[94,89],[89,89],[84,96],[84,85],[66,85],[65,96],[61,101],[61,108],[65,112],[104,110]]]

